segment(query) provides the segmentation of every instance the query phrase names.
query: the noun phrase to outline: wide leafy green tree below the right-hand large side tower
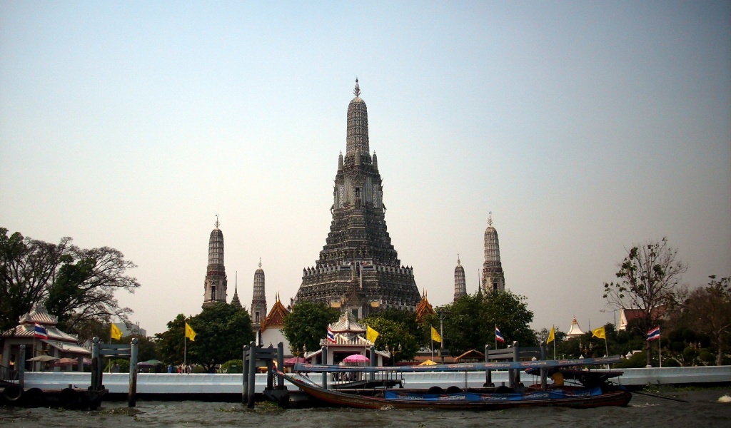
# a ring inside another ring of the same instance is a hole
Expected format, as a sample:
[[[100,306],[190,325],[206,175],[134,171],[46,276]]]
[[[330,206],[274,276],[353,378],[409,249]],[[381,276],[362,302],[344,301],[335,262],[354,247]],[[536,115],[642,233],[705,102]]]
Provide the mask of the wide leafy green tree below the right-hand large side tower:
[[[526,298],[512,291],[477,292],[461,297],[457,302],[438,307],[446,313],[444,317],[444,337],[446,348],[452,356],[458,356],[471,349],[483,351],[485,345],[494,345],[495,326],[507,343],[517,340],[521,346],[537,345],[534,332],[529,324],[533,312],[528,309]],[[436,322],[439,331],[439,318],[428,317]]]

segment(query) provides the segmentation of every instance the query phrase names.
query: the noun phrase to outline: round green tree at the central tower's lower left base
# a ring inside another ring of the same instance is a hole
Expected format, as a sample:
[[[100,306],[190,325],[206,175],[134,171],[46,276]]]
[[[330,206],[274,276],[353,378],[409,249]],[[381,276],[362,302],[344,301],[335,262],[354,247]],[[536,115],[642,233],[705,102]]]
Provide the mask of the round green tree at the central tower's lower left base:
[[[309,351],[320,348],[319,341],[327,335],[327,324],[338,321],[340,311],[323,303],[298,302],[284,318],[282,332],[290,351],[307,346]]]

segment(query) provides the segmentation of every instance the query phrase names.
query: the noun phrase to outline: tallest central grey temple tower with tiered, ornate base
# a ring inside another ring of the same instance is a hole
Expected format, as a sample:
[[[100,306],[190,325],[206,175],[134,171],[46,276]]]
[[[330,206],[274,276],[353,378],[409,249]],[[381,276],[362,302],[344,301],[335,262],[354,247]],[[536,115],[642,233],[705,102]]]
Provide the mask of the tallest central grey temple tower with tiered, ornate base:
[[[388,235],[376,153],[368,148],[368,110],[355,80],[348,105],[345,157],[338,156],[333,222],[314,267],[303,270],[296,299],[323,302],[361,318],[370,310],[414,310],[414,271],[398,259]]]

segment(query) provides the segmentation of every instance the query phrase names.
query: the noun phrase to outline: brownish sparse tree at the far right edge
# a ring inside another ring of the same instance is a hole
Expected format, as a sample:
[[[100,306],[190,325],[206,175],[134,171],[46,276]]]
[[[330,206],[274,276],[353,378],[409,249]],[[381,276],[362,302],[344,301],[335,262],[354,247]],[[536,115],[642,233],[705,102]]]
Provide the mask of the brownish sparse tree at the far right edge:
[[[731,336],[731,278],[710,278],[708,286],[692,291],[685,302],[683,318],[697,332],[711,338],[711,345],[717,350],[716,365],[721,365],[727,338]]]

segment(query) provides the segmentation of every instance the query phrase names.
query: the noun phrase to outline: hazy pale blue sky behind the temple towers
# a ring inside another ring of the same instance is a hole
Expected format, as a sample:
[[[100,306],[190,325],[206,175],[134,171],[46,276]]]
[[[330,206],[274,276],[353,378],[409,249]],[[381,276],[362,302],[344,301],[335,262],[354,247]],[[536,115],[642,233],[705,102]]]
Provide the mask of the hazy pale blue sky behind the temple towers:
[[[270,4],[273,3],[273,4]],[[534,329],[613,320],[625,249],[731,275],[729,1],[0,3],[0,226],[139,267],[162,332],[261,257],[285,305],[330,230],[355,77],[392,243],[433,305],[488,213]]]

